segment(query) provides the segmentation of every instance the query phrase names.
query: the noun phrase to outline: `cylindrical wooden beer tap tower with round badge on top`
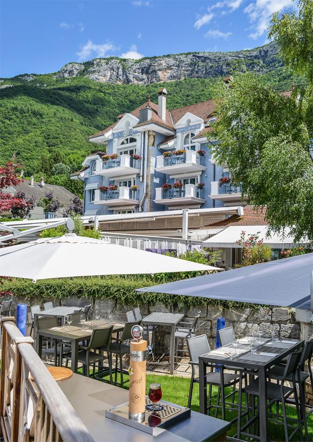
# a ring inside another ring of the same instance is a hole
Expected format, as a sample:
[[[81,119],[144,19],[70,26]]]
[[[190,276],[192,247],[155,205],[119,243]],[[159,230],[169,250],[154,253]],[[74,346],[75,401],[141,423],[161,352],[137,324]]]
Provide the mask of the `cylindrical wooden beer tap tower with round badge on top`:
[[[146,410],[147,341],[142,339],[142,334],[142,327],[138,325],[132,327],[129,418],[136,422],[144,422]]]

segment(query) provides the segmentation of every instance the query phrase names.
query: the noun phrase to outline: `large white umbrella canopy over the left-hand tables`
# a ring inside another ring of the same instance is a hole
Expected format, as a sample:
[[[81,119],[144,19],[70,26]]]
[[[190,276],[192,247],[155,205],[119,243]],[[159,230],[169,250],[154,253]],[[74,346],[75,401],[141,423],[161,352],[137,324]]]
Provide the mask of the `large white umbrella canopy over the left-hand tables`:
[[[69,233],[0,249],[0,275],[37,279],[216,270]]]

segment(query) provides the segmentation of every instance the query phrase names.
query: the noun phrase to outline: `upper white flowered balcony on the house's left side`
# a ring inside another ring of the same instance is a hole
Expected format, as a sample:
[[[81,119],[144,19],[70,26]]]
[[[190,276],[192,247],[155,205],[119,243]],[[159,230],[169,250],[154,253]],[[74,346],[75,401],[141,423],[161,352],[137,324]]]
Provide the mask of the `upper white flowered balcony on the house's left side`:
[[[140,171],[140,160],[135,160],[130,155],[120,155],[113,160],[97,160],[95,175],[123,176],[135,175]]]

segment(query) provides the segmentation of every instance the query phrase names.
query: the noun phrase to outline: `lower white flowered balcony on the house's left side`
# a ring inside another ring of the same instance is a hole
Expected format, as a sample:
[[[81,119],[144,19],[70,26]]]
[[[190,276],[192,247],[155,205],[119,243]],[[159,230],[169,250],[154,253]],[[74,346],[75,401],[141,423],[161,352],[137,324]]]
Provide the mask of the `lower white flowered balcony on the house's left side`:
[[[116,191],[103,192],[99,189],[95,191],[94,204],[103,206],[119,207],[134,206],[138,204],[139,192],[133,191],[130,187],[119,187]]]

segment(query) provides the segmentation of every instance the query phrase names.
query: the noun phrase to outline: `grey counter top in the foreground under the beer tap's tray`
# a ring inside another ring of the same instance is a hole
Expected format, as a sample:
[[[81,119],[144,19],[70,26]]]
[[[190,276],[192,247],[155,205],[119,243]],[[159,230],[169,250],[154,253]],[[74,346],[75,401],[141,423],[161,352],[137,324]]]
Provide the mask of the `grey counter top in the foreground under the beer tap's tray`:
[[[128,401],[128,390],[75,373],[58,385],[97,442],[214,441],[230,427],[224,420],[191,412],[190,418],[153,437],[104,416],[105,410]]]

